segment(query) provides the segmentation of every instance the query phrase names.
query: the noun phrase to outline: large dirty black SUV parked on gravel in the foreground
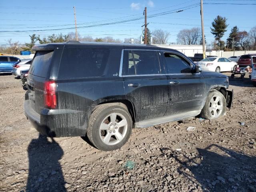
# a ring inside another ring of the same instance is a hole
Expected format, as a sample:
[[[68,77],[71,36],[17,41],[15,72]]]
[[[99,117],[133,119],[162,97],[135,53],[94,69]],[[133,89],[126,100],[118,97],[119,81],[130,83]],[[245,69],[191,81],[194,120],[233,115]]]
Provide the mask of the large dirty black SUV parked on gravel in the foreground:
[[[176,50],[77,41],[33,50],[25,114],[51,137],[87,135],[96,148],[114,150],[132,128],[216,119],[232,104],[226,75],[202,72]]]

